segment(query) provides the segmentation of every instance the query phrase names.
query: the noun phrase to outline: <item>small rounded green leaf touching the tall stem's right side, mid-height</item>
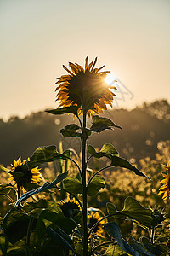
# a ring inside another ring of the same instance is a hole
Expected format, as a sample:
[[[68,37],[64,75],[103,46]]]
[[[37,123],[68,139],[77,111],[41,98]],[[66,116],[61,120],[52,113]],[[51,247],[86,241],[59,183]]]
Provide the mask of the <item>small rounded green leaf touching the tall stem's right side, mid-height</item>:
[[[89,196],[96,195],[100,189],[104,189],[104,188],[105,188],[105,178],[100,175],[96,175],[88,185],[88,195]]]

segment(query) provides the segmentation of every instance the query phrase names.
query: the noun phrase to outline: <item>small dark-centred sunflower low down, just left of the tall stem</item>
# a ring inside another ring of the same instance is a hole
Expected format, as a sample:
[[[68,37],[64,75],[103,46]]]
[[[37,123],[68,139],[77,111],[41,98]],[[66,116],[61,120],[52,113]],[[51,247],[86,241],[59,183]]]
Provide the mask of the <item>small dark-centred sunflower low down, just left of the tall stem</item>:
[[[62,201],[59,207],[67,218],[74,218],[80,212],[79,204],[75,199]]]

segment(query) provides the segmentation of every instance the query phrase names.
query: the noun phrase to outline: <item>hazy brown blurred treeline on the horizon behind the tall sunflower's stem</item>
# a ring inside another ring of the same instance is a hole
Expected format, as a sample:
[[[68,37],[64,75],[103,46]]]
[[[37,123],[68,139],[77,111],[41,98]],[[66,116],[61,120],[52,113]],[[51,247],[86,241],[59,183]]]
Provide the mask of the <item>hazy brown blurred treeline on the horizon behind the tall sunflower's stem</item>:
[[[131,111],[113,109],[105,112],[105,117],[120,125],[122,130],[94,133],[88,143],[95,148],[112,143],[122,157],[133,163],[147,156],[153,159],[157,143],[170,139],[170,105],[166,100],[144,103]],[[74,122],[71,115],[54,116],[45,112],[31,113],[24,119],[11,117],[8,122],[0,119],[0,163],[10,165],[20,156],[26,160],[39,146],[59,147],[61,140],[64,148],[75,148],[78,152],[78,138],[65,139],[59,134],[60,129]],[[89,127],[91,122],[88,120]]]

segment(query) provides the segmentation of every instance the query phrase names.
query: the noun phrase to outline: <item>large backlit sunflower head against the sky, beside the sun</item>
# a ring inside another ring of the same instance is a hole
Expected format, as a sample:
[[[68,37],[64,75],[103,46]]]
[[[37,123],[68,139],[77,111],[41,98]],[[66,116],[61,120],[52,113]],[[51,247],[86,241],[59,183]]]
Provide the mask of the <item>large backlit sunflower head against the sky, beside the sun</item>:
[[[94,68],[97,57],[94,62],[88,64],[88,57],[85,60],[85,68],[77,63],[69,62],[67,75],[62,75],[56,88],[58,91],[57,101],[60,101],[59,107],[77,106],[78,113],[86,112],[88,116],[94,113],[103,113],[107,109],[107,104],[112,108],[113,96],[115,94],[110,89],[116,89],[115,86],[109,86],[105,82],[105,77],[110,71],[99,72],[103,67]]]

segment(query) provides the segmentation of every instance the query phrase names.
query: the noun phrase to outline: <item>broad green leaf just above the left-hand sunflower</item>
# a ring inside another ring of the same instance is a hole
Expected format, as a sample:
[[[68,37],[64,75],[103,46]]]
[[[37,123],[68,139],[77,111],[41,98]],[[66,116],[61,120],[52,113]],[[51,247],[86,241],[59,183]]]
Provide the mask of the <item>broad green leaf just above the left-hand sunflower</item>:
[[[66,157],[64,154],[59,154],[56,150],[56,147],[48,146],[37,148],[34,154],[31,157],[30,161],[26,161],[26,165],[32,169],[45,162],[52,162],[54,160],[62,159],[65,160]]]

